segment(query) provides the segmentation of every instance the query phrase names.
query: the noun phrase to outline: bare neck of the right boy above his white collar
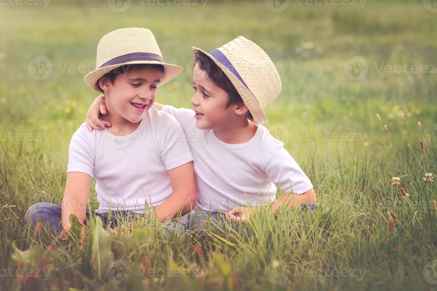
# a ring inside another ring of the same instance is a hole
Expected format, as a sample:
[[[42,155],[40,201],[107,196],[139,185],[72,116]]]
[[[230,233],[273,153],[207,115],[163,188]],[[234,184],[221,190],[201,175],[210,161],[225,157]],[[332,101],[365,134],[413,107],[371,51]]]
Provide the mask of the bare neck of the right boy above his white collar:
[[[257,125],[249,120],[233,123],[230,127],[213,130],[215,136],[226,144],[243,144],[257,132]]]

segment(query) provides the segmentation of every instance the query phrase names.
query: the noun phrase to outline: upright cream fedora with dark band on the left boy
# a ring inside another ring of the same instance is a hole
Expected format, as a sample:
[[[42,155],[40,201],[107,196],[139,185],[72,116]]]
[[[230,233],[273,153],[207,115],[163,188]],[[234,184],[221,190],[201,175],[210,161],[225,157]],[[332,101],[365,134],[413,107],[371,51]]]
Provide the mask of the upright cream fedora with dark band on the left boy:
[[[101,38],[97,45],[97,69],[85,76],[85,83],[97,92],[98,79],[122,65],[157,64],[163,65],[165,72],[158,86],[165,84],[182,72],[183,68],[167,64],[152,31],[147,28],[121,28],[111,31]]]

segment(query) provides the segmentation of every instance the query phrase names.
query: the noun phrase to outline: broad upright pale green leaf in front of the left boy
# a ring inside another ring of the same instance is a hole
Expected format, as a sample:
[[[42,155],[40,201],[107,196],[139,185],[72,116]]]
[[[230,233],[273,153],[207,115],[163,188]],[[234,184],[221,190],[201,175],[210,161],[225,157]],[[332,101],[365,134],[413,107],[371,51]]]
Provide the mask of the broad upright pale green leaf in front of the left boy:
[[[112,253],[111,234],[103,228],[100,217],[96,216],[96,223],[92,231],[91,262],[94,276],[102,279],[106,275],[106,269],[114,261]]]

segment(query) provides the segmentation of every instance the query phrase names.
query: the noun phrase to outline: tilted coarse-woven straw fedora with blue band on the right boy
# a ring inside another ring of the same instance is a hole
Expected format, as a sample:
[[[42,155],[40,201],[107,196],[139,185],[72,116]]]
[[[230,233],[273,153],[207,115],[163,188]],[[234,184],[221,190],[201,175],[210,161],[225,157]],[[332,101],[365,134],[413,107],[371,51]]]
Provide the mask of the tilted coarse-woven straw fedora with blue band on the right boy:
[[[262,48],[239,36],[209,53],[199,50],[223,70],[239,92],[257,124],[267,123],[263,109],[281,92],[281,78]]]

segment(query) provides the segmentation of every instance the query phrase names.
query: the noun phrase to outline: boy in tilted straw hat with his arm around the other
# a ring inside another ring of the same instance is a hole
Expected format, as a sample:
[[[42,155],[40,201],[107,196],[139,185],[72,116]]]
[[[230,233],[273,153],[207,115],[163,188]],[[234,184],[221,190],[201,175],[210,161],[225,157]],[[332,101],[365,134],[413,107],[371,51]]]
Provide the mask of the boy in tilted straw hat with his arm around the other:
[[[154,105],[175,116],[187,136],[202,137],[188,139],[198,187],[198,210],[187,214],[188,228],[198,228],[193,218],[203,216],[248,223],[261,207],[314,211],[318,203],[311,181],[261,125],[268,121],[263,109],[281,92],[269,56],[242,36],[209,53],[192,49],[193,110]],[[99,96],[88,110],[89,130],[104,126],[99,113],[104,114],[105,102]],[[276,199],[276,186],[286,195]]]

